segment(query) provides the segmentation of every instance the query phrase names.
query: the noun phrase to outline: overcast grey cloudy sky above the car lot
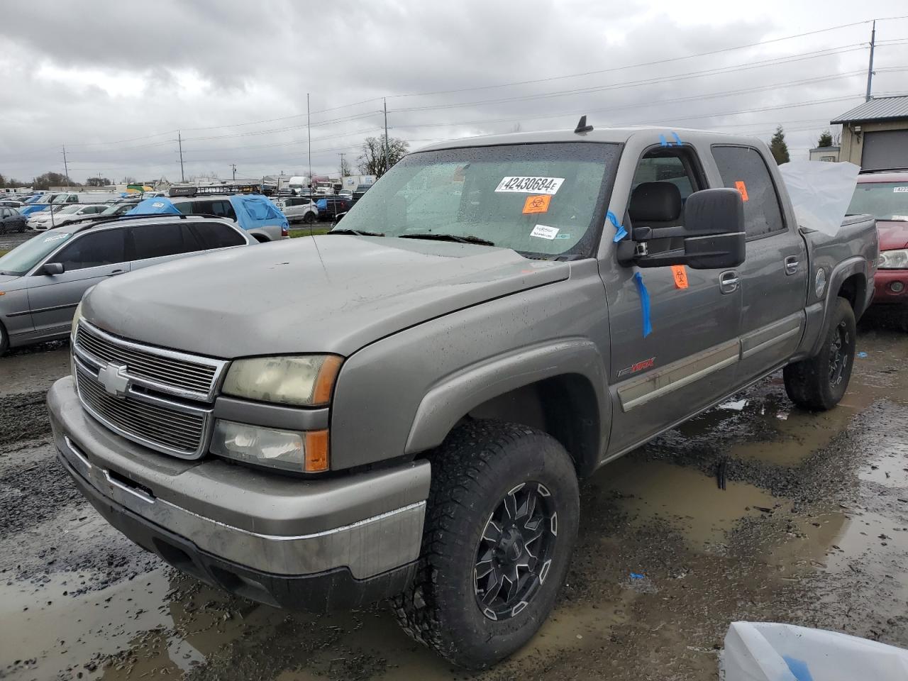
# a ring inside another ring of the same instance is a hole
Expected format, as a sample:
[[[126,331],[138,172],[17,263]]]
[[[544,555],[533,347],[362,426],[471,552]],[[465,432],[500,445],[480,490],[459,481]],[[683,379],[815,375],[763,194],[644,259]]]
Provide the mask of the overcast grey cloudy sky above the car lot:
[[[782,123],[806,158],[864,101],[870,25],[765,41],[898,15],[904,0],[10,3],[0,173],[63,172],[65,144],[76,181],[179,180],[179,130],[187,177],[304,174],[307,93],[316,174],[340,153],[355,166],[382,97],[410,149],[588,114],[765,140]],[[873,94],[906,94],[908,19],[878,22],[876,39]]]

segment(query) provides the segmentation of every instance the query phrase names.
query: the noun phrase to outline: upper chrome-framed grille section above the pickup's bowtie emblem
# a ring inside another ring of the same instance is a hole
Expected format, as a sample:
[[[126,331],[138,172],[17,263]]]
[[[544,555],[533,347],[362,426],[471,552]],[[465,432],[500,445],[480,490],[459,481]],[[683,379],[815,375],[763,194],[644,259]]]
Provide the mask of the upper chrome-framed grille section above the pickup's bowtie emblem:
[[[100,368],[108,362],[126,367],[134,383],[177,397],[211,401],[226,362],[125,341],[85,321],[79,323],[74,351]]]

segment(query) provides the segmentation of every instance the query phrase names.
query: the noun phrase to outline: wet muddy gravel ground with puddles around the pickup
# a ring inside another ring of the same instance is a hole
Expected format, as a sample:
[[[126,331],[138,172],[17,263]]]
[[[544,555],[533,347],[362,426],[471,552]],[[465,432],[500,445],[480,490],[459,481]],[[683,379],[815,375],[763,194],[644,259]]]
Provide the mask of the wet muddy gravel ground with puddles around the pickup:
[[[908,336],[858,349],[831,412],[793,410],[774,376],[587,480],[558,607],[479,678],[715,679],[742,619],[908,646]],[[63,343],[0,360],[0,677],[472,677],[384,605],[282,612],[135,548],[54,460],[42,399],[67,369]]]

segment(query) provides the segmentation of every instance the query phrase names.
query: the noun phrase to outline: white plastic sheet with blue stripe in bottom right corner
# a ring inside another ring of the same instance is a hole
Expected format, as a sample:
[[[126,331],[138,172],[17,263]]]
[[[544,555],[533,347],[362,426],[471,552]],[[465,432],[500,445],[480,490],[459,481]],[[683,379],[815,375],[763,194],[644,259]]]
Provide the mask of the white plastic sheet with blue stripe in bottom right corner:
[[[834,631],[733,622],[725,635],[725,681],[905,681],[908,650]]]

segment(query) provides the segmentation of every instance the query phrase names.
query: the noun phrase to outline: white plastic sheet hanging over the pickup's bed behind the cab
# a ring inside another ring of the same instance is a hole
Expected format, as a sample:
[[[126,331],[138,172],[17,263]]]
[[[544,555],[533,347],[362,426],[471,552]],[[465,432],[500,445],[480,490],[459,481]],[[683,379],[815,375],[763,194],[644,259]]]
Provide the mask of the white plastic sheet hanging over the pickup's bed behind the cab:
[[[790,161],[779,166],[795,217],[802,227],[834,236],[854,195],[860,166],[828,161]]]

